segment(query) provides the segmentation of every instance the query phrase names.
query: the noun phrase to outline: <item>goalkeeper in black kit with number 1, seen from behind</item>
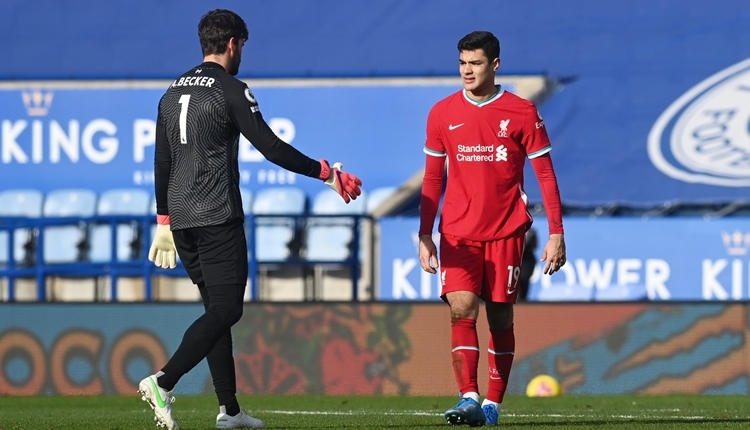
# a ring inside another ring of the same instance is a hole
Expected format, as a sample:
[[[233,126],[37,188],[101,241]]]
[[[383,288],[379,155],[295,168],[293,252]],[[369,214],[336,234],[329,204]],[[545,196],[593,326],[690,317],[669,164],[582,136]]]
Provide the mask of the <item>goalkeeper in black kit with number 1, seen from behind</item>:
[[[203,358],[219,403],[217,428],[262,428],[237,403],[231,327],[242,316],[248,278],[247,243],[239,189],[242,133],[268,159],[325,181],[345,202],[362,182],[340,164],[313,160],[279,139],[246,84],[236,79],[248,37],[245,22],[227,10],[201,18],[203,63],[177,78],[159,102],[155,187],[157,230],[149,260],[174,268],[176,256],[198,286],[205,313],[188,327],[174,355],[139,384],[157,425],[179,428],[171,401],[180,378]]]

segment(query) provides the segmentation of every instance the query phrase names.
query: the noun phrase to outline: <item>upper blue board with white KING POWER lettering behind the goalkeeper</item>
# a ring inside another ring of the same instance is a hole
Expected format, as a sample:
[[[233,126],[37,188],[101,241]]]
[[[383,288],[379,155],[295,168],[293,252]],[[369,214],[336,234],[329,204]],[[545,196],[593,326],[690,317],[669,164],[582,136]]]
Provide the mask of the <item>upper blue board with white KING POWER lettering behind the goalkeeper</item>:
[[[400,185],[423,166],[427,114],[460,88],[459,80],[448,82],[257,88],[251,83],[251,88],[281,139],[314,159],[343,162],[367,191]],[[0,191],[138,187],[153,192],[155,118],[168,85],[76,88],[70,83],[0,90]],[[510,82],[504,86],[513,89]],[[318,181],[268,162],[244,137],[239,160],[241,186],[250,190],[278,185],[308,195],[322,190]]]

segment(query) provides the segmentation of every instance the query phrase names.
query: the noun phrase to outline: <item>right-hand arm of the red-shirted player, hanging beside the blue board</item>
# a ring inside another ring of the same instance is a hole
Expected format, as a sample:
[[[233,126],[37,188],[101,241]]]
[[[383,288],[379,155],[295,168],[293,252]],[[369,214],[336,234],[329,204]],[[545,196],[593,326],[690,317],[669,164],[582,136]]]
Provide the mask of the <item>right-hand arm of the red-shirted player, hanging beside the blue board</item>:
[[[547,213],[549,241],[542,251],[541,261],[546,261],[544,273],[552,274],[558,271],[566,261],[562,202],[557,185],[557,176],[552,166],[550,155],[552,147],[549,136],[547,136],[547,129],[534,105],[530,105],[526,111],[523,145],[526,148],[537,181],[539,181],[542,203]]]

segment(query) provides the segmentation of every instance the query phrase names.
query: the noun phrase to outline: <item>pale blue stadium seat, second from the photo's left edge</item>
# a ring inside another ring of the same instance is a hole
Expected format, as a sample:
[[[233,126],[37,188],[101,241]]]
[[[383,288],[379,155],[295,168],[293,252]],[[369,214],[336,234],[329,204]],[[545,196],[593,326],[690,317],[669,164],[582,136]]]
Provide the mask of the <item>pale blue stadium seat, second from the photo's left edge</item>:
[[[91,190],[51,191],[44,201],[45,217],[90,217],[96,212],[96,193]],[[83,259],[86,251],[86,226],[44,228],[45,263],[70,263]]]

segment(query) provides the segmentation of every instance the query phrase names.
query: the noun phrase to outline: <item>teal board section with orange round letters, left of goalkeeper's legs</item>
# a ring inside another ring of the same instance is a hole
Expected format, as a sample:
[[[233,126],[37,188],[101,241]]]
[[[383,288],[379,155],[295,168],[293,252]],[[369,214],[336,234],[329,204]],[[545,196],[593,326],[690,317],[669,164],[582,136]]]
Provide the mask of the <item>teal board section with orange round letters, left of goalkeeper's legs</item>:
[[[29,394],[135,394],[166,363],[203,313],[199,304],[14,303],[0,314],[0,391]],[[205,392],[208,365],[199,363],[175,391]],[[23,392],[23,388],[20,389]]]

